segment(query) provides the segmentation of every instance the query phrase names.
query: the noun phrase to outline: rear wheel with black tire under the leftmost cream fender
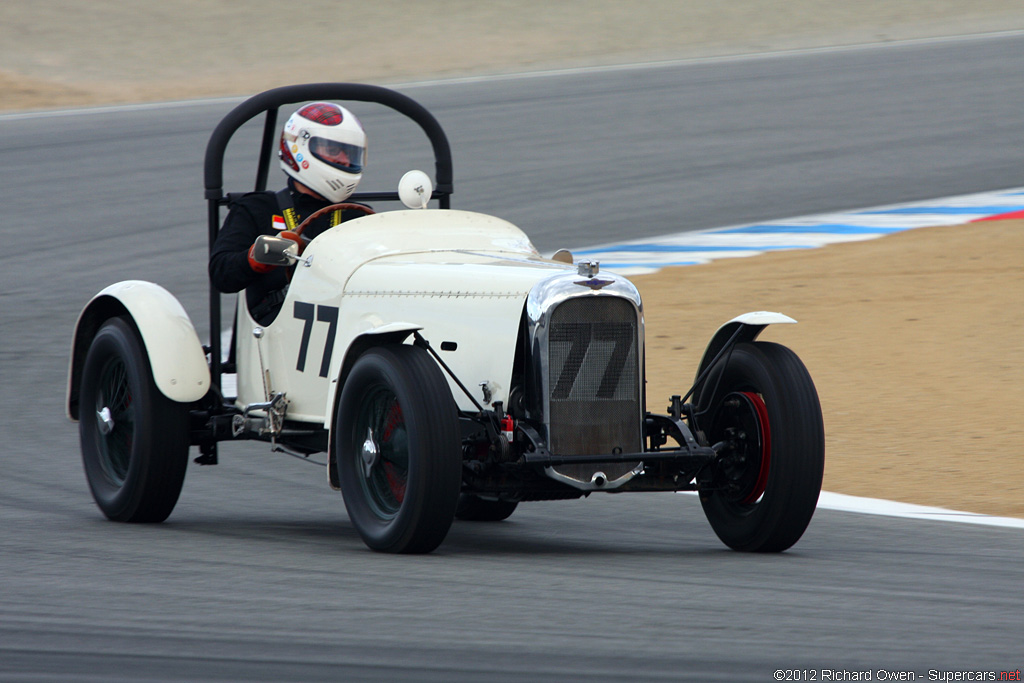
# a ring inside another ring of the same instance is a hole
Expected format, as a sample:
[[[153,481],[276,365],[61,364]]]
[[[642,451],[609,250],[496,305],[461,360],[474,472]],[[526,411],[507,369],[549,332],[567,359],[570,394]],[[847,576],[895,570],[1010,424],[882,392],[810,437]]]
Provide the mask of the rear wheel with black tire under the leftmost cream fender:
[[[128,319],[111,318],[93,338],[80,407],[82,462],[99,509],[115,521],[167,519],[188,466],[188,407],[157,388]]]

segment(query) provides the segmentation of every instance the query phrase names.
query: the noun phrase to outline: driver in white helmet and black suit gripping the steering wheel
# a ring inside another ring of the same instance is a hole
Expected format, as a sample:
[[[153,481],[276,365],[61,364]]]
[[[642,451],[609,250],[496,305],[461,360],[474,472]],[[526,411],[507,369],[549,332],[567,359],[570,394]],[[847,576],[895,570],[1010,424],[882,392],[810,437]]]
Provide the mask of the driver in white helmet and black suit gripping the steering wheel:
[[[331,102],[306,104],[285,123],[278,152],[288,186],[281,191],[250,193],[230,205],[210,254],[213,286],[224,293],[246,290],[253,319],[268,325],[276,317],[288,290],[288,268],[257,263],[256,238],[271,234],[305,242],[359,212],[329,212],[294,232],[319,209],[348,199],[362,178],[367,135],[355,116]],[[348,214],[351,214],[349,216]]]

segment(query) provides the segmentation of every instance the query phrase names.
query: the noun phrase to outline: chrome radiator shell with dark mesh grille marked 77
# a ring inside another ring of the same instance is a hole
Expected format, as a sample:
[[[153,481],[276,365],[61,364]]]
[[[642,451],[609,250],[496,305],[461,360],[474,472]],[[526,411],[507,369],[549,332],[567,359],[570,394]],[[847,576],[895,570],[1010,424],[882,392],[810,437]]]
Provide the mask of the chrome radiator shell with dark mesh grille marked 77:
[[[526,417],[551,453],[641,453],[644,321],[633,284],[556,275],[530,291],[525,321]],[[598,473],[613,483],[638,464],[559,465],[549,475],[590,487]]]

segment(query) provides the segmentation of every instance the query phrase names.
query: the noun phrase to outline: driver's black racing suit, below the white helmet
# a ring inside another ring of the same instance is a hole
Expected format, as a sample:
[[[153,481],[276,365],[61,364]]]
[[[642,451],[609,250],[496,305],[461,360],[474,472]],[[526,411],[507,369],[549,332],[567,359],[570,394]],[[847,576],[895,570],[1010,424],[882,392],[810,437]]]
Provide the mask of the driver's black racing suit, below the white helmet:
[[[301,223],[306,216],[330,203],[309,195],[296,191],[289,180],[296,221]],[[342,220],[351,214],[344,212]],[[356,214],[359,215],[359,214]],[[278,216],[276,225],[274,216]],[[333,212],[328,212],[307,225],[302,237],[305,242],[315,238],[331,227]],[[278,315],[284,292],[288,287],[288,270],[280,267],[269,272],[259,273],[249,265],[249,248],[261,234],[276,234],[285,227],[282,208],[272,191],[250,193],[231,203],[227,218],[217,233],[210,254],[210,282],[221,292],[231,293],[246,290],[246,304],[253,318],[268,325]]]

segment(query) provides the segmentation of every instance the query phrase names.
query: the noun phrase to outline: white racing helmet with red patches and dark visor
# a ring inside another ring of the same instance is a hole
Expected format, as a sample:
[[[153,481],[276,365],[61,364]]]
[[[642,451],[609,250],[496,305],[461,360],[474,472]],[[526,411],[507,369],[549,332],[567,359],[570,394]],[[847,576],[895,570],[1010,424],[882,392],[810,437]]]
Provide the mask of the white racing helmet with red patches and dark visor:
[[[330,202],[344,202],[362,178],[367,134],[344,106],[313,102],[288,119],[278,155],[285,173]]]

